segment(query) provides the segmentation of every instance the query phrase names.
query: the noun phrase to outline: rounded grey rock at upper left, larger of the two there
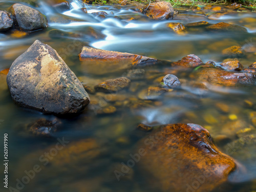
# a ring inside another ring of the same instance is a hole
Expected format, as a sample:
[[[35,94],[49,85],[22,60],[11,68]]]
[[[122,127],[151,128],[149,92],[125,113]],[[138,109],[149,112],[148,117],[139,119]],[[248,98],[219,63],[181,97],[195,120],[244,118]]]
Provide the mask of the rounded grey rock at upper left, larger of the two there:
[[[22,4],[14,4],[9,8],[14,19],[14,26],[25,31],[35,31],[48,27],[48,20],[45,15]]]

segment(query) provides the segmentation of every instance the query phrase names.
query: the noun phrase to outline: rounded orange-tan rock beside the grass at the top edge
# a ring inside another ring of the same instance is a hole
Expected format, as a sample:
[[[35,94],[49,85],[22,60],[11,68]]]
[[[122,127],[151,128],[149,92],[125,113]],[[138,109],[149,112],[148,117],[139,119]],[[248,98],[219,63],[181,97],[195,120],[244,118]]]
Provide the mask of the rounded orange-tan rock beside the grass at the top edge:
[[[153,19],[169,19],[173,18],[174,9],[168,2],[157,2],[146,6],[142,13]]]

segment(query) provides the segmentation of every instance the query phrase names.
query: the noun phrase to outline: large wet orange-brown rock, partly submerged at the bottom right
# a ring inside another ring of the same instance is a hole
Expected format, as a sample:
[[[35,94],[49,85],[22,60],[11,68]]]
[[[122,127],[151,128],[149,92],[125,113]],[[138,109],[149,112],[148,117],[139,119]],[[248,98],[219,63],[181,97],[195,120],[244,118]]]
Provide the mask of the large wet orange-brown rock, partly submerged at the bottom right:
[[[242,170],[197,124],[161,126],[139,142],[136,152],[147,186],[161,191],[211,191]]]

